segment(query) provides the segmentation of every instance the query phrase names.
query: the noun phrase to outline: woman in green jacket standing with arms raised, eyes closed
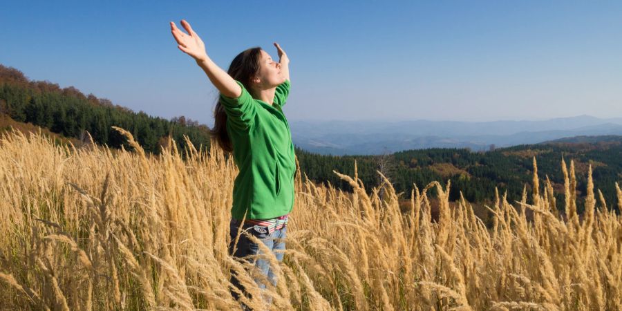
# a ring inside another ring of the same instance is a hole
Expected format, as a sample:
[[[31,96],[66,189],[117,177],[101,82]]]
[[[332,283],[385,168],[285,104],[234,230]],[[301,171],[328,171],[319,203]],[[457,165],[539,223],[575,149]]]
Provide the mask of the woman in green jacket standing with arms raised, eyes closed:
[[[249,48],[234,58],[225,73],[209,59],[190,24],[182,20],[181,25],[187,34],[171,21],[178,48],[196,60],[220,91],[212,135],[220,148],[233,152],[239,169],[233,189],[229,253],[236,257],[259,253],[258,245],[239,232],[252,234],[272,251],[283,250],[288,214],[294,206],[296,171],[292,134],[282,111],[290,91],[290,60],[276,43],[279,62],[261,48]],[[283,252],[274,255],[283,260]],[[260,258],[254,264],[276,285],[267,261]],[[261,281],[256,282],[265,288]],[[244,292],[234,274],[232,283]]]

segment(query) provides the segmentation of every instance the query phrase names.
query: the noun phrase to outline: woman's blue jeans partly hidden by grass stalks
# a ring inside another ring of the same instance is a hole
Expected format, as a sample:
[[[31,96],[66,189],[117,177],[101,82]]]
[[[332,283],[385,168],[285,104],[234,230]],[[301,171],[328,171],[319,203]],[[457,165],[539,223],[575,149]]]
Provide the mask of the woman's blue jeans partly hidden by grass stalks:
[[[249,255],[263,254],[260,252],[259,245],[250,241],[250,239],[245,234],[243,234],[243,232],[247,232],[248,234],[251,234],[252,236],[258,238],[261,243],[263,243],[268,249],[270,249],[270,251],[285,249],[285,241],[279,241],[275,239],[285,238],[285,234],[287,232],[287,225],[285,225],[281,229],[274,230],[272,234],[267,233],[267,227],[262,227],[258,225],[244,225],[242,227],[242,232],[240,232],[240,239],[238,241],[238,244],[236,245],[236,252],[235,254],[232,254],[239,226],[239,221],[235,219],[232,219],[231,223],[229,224],[229,236],[231,237],[231,243],[229,243],[229,255],[238,258],[244,258],[245,256]],[[283,261],[283,252],[276,252],[274,253],[274,256],[279,262]],[[250,263],[253,263],[254,258],[246,258],[246,260]],[[256,267],[258,267],[259,270],[261,270],[262,274],[267,276],[268,280],[270,280],[270,283],[276,286],[276,275],[272,272],[272,269],[270,268],[270,263],[268,263],[268,261],[263,258],[258,258],[255,260],[254,264]],[[230,281],[234,286],[236,286],[236,288],[246,294],[243,286],[240,284],[240,282],[236,278],[236,275],[233,272],[231,274]],[[255,283],[257,283],[259,288],[264,289],[266,287],[266,285],[263,284],[261,280],[255,279]],[[238,294],[236,294],[236,292],[234,291],[232,291],[232,296],[234,296],[235,299],[238,299]],[[270,303],[270,301],[267,302]]]

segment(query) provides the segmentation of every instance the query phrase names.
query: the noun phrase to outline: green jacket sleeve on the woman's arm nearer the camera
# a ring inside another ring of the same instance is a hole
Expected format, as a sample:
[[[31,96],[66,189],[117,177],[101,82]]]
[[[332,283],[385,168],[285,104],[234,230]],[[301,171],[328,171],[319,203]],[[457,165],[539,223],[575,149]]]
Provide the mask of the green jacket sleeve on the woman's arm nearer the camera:
[[[257,106],[253,97],[246,91],[243,84],[236,80],[242,88],[240,97],[227,97],[220,94],[220,104],[223,105],[227,114],[227,122],[231,123],[232,129],[247,131],[253,126],[257,113]]]

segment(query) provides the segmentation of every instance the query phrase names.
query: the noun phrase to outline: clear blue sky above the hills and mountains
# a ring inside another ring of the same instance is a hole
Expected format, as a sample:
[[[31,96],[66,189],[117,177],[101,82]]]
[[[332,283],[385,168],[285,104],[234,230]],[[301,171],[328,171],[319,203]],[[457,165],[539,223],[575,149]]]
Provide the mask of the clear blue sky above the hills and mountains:
[[[217,97],[171,36],[180,19],[225,70],[278,41],[290,120],[622,117],[622,1],[0,4],[0,64],[166,118],[211,125]]]

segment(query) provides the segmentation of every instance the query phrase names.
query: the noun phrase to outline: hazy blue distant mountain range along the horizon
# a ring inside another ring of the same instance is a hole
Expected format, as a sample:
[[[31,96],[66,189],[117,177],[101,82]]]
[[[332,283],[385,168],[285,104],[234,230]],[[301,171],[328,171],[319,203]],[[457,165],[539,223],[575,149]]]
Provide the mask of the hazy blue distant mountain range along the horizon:
[[[291,121],[296,147],[320,154],[377,155],[410,149],[473,151],[536,144],[580,135],[622,135],[622,117],[590,115],[542,121],[458,122],[413,120]]]

